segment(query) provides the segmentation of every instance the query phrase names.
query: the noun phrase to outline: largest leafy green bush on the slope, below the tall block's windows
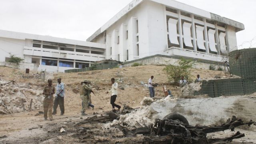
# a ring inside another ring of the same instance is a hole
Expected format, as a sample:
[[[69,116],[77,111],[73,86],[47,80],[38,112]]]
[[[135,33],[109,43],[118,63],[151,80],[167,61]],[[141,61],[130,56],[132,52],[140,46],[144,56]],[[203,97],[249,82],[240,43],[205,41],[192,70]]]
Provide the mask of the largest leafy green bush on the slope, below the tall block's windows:
[[[168,75],[168,80],[170,82],[179,82],[180,77],[184,76],[186,80],[188,80],[191,76],[191,68],[192,65],[196,62],[193,62],[192,59],[181,59],[176,62],[177,66],[169,64],[163,70]]]

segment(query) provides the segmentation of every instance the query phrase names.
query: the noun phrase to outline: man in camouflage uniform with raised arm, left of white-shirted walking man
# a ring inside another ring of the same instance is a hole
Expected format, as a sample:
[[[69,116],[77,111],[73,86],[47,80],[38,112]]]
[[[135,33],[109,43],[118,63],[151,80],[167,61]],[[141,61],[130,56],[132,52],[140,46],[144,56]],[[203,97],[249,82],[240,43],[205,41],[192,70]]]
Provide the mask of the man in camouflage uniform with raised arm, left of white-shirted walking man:
[[[86,115],[85,110],[88,106],[88,100],[89,100],[89,94],[91,90],[91,86],[88,84],[88,80],[84,80],[81,88],[80,88],[80,98],[82,99],[82,114],[81,115]]]

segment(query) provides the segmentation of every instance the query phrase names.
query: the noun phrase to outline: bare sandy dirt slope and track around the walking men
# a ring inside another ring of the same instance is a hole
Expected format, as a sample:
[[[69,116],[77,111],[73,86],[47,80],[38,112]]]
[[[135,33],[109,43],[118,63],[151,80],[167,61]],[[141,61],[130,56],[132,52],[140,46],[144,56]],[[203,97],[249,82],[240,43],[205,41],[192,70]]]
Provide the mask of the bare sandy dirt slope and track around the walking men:
[[[156,97],[163,98],[162,85],[166,85],[172,91],[175,97],[180,96],[180,89],[177,86],[170,85],[167,75],[162,71],[164,66],[148,65],[129,68],[114,68],[109,70],[96,70],[78,73],[55,73],[54,86],[57,78],[62,78],[66,84],[65,88],[65,114],[60,116],[60,110],[57,109],[57,115],[53,121],[45,121],[43,115],[35,116],[38,110],[30,112],[20,112],[9,115],[0,114],[0,143],[3,144],[73,144],[73,143],[142,143],[142,136],[135,138],[121,138],[120,130],[113,128],[105,130],[100,124],[84,124],[80,127],[73,127],[72,124],[85,119],[93,114],[103,114],[111,110],[110,95],[106,94],[111,88],[110,78],[116,78],[119,87],[116,103],[119,105],[128,105],[132,108],[140,108],[140,102],[145,96],[149,96],[147,84],[150,76],[154,76],[153,83],[157,83]],[[25,72],[0,67],[0,78],[3,80],[16,80],[22,83],[42,83],[35,78],[24,78]],[[31,72],[30,75],[36,74]],[[201,78],[214,78],[216,75],[225,77],[222,71],[192,69],[192,75],[196,78],[200,74]],[[194,79],[193,78],[193,79]],[[92,94],[92,103],[94,110],[88,109],[88,116],[81,116],[82,107],[79,96],[80,82],[84,79],[92,82],[95,96]],[[47,85],[46,82],[45,86]],[[43,111],[43,108],[40,109]],[[66,132],[60,133],[60,128]],[[81,128],[86,131],[78,132]],[[4,137],[2,137],[4,136]]]

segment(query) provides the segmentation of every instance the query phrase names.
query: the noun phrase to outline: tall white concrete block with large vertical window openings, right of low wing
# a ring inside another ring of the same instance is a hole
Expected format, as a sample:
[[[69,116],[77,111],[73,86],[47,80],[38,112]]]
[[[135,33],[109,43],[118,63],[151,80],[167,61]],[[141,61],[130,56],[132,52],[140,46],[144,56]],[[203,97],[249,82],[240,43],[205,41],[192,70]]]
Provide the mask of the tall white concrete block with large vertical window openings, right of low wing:
[[[240,22],[175,0],[133,0],[87,41],[122,62],[156,54],[220,62],[237,49],[240,30]]]

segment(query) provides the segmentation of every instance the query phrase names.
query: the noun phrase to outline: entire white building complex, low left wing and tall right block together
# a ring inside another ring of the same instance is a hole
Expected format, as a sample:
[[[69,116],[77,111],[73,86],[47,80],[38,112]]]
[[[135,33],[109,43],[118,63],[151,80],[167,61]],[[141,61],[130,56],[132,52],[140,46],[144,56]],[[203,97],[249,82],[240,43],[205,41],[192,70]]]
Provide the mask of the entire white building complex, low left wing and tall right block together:
[[[237,50],[240,30],[240,22],[174,0],[133,0],[87,42],[0,30],[0,65],[8,65],[11,54],[24,59],[20,69],[48,72],[86,68],[105,59],[144,58],[145,64],[155,64],[161,63],[156,62],[159,56],[212,64]]]

